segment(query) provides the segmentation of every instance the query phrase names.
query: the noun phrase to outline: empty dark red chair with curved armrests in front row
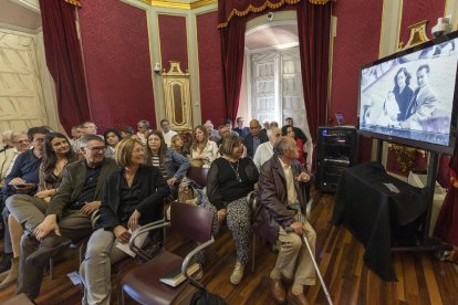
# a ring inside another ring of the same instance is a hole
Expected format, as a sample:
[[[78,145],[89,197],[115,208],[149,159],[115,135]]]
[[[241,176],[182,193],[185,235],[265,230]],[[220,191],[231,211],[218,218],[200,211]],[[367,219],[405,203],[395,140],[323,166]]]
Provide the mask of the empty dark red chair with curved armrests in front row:
[[[140,230],[134,232],[129,241],[129,246],[135,253],[142,253],[142,250],[135,245],[135,239],[139,234],[168,225],[171,225],[178,234],[194,240],[200,245],[190,251],[185,259],[164,250],[140,267],[129,271],[121,282],[123,292],[122,302],[124,303],[124,293],[126,293],[140,304],[170,304],[185,290],[186,285],[181,283],[176,287],[171,287],[162,283],[159,280],[170,271],[177,269],[181,270],[181,273],[186,277],[186,283],[191,283],[199,288],[204,288],[186,271],[192,257],[199,251],[214,243],[215,240],[211,235],[212,220],[214,213],[211,211],[192,204],[171,202],[170,222],[164,221],[159,224],[143,227]]]

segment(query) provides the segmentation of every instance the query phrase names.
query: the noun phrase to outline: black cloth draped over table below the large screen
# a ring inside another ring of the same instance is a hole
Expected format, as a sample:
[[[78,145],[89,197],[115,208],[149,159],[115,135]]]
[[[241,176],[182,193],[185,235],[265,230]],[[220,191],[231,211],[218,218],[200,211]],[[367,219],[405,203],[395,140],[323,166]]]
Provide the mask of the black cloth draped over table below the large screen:
[[[384,281],[394,282],[392,238],[415,235],[426,206],[426,190],[389,176],[379,162],[369,162],[343,172],[331,222],[343,223],[364,244],[364,263]]]

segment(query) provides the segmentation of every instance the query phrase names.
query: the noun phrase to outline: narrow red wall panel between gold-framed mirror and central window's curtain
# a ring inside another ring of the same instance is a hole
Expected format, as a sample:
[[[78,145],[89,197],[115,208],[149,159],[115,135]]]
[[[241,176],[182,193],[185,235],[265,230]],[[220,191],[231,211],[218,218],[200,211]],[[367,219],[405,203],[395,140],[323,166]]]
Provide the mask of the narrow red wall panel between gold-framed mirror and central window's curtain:
[[[225,118],[221,45],[217,21],[216,11],[197,15],[201,117],[202,120],[211,119],[216,127]]]

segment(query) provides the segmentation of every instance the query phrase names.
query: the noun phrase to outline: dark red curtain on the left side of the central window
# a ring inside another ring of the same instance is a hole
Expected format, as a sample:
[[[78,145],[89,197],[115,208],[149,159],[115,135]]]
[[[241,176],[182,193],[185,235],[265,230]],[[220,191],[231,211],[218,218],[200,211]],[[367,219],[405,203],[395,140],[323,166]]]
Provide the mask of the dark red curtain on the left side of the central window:
[[[220,0],[225,1],[225,0]],[[239,108],[240,86],[243,70],[244,30],[247,17],[235,18],[229,27],[220,30],[222,78],[225,90],[225,118],[236,119]]]

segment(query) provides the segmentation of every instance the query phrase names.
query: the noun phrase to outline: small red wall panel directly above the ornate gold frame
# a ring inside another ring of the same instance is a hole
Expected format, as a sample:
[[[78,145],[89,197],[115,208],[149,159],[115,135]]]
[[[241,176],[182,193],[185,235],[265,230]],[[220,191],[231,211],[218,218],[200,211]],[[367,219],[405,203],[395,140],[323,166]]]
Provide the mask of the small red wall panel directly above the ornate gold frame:
[[[183,72],[188,69],[188,44],[186,39],[186,17],[159,14],[159,40],[162,66],[170,69],[169,61],[180,62]]]

